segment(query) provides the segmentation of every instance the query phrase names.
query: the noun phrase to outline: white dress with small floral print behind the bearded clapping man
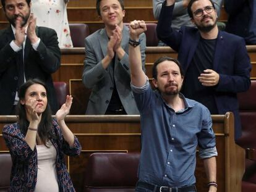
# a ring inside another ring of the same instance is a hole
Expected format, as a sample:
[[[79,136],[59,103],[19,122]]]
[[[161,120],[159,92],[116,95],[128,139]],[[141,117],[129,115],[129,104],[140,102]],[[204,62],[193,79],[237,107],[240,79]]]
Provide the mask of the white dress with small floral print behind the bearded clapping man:
[[[36,25],[53,28],[59,41],[59,48],[72,48],[67,3],[64,0],[32,0],[31,12],[36,17]]]

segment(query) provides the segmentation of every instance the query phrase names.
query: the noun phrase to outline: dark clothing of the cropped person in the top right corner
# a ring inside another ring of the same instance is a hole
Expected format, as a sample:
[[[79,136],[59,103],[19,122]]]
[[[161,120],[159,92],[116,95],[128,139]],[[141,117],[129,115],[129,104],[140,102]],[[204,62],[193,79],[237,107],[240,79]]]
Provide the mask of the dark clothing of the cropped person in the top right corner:
[[[242,36],[246,44],[256,44],[256,1],[224,0],[228,13],[226,31]]]

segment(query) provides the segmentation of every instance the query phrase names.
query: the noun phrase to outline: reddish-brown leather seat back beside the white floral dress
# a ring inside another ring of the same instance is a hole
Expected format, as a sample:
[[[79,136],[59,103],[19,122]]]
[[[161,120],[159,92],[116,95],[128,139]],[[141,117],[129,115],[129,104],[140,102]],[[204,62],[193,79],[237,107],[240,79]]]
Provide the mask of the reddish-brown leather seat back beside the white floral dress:
[[[90,30],[85,23],[69,23],[70,36],[74,48],[84,48],[85,38],[90,35]]]

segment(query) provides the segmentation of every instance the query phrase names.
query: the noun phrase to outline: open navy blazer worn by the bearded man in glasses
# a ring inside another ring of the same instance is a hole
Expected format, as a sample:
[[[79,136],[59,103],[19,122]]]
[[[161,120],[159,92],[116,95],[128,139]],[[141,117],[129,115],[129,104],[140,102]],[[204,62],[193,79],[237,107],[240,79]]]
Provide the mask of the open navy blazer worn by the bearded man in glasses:
[[[182,27],[180,31],[175,31],[171,27],[166,27],[171,26],[173,7],[163,6],[156,30],[158,38],[178,52],[178,60],[186,73],[200,40],[200,33],[197,28]],[[219,73],[220,81],[215,87],[214,98],[219,114],[225,114],[228,111],[234,113],[235,138],[241,136],[237,92],[249,89],[251,68],[244,39],[219,31],[213,70]]]

